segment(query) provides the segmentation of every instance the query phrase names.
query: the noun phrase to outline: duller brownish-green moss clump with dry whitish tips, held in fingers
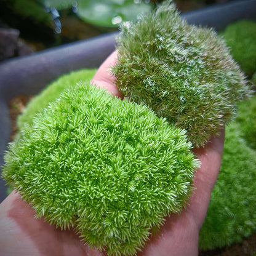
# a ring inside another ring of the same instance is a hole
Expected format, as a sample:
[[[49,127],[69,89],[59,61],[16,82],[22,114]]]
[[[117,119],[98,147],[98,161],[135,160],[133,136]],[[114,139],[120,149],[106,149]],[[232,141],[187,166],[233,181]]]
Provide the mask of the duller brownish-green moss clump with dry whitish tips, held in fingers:
[[[170,1],[122,25],[112,70],[123,95],[186,129],[194,146],[218,134],[249,94],[225,41],[213,30],[188,25]]]

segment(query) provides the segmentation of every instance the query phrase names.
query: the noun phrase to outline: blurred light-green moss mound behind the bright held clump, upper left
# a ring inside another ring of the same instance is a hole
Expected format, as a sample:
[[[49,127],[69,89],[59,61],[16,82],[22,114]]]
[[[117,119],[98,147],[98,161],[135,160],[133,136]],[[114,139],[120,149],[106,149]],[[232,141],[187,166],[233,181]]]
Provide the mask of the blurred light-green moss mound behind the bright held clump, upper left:
[[[23,113],[18,116],[18,130],[22,130],[26,123],[31,124],[34,115],[58,98],[63,90],[75,86],[79,81],[90,81],[95,73],[96,69],[73,71],[70,74],[60,76],[56,81],[49,84],[40,94],[31,99]]]

